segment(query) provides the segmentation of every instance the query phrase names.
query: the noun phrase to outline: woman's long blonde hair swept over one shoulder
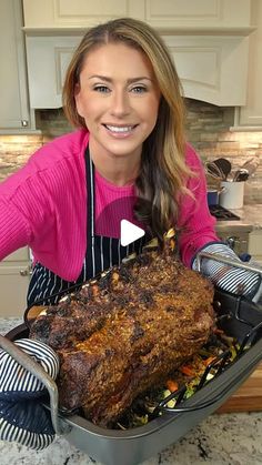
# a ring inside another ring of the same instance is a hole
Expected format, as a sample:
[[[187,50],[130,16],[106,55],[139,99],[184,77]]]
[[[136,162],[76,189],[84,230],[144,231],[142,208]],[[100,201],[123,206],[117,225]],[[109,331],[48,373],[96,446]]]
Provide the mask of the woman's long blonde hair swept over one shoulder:
[[[83,61],[95,47],[124,42],[141,50],[150,60],[161,92],[157,124],[143,143],[141,171],[135,181],[137,216],[161,240],[175,224],[179,198],[188,192],[185,179],[192,175],[185,164],[184,104],[181,83],[163,40],[147,23],[122,18],[90,29],[69,64],[63,87],[63,108],[72,125],[84,128],[74,101]]]

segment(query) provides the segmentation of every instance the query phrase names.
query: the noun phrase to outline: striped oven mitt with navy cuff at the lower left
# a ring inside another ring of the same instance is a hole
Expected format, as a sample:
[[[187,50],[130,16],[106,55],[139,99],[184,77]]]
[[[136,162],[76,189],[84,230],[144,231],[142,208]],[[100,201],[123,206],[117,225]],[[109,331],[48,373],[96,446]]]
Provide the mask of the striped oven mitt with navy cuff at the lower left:
[[[14,342],[56,380],[59,358],[51,347],[39,341]],[[0,439],[14,441],[27,447],[42,449],[56,433],[51,416],[41,404],[44,385],[0,348]]]

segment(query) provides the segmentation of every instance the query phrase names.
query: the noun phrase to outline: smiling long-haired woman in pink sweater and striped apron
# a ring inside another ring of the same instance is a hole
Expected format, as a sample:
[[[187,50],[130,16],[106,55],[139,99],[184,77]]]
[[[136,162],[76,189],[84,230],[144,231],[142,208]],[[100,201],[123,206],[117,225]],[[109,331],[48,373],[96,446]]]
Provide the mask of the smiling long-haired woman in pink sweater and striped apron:
[[[88,31],[69,65],[63,103],[78,131],[40,149],[0,188],[0,256],[31,247],[30,305],[56,303],[171,226],[188,266],[201,249],[239,260],[215,235],[201,162],[184,140],[179,78],[149,26],[118,19]],[[122,219],[143,228],[145,239],[123,247]],[[246,296],[260,284],[254,273],[208,260],[202,271]],[[33,446],[48,445],[40,443]]]

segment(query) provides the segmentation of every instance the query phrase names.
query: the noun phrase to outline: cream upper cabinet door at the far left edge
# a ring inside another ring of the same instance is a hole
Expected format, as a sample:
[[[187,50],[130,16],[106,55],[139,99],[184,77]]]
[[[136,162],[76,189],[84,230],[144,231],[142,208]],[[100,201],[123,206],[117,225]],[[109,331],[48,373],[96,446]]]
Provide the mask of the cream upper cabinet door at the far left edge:
[[[0,132],[30,127],[22,26],[21,0],[1,0]]]

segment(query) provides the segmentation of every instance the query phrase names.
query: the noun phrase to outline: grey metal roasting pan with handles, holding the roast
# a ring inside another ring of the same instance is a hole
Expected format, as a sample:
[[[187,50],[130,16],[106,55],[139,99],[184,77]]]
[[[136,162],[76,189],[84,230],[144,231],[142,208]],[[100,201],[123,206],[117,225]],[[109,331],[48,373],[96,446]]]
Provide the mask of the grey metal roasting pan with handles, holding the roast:
[[[210,254],[200,255],[199,266],[202,257],[210,257]],[[234,262],[219,255],[216,257],[212,255],[212,259],[235,266]],[[246,264],[239,266],[261,274],[261,270],[254,266]],[[234,362],[199,388],[192,397],[177,403],[174,408],[168,408],[167,403],[162,403],[161,416],[144,426],[127,431],[105,429],[80,415],[67,416],[59,411],[58,390],[53,380],[12,343],[17,338],[28,336],[29,330],[26,324],[17,326],[6,337],[0,336],[0,346],[47,386],[49,401],[44,405],[51,412],[57,434],[63,435],[75,447],[102,464],[135,465],[179,441],[193,426],[216,411],[262,360],[262,306],[244,297],[215,290],[214,309],[221,328],[228,335],[235,337],[241,347]]]

